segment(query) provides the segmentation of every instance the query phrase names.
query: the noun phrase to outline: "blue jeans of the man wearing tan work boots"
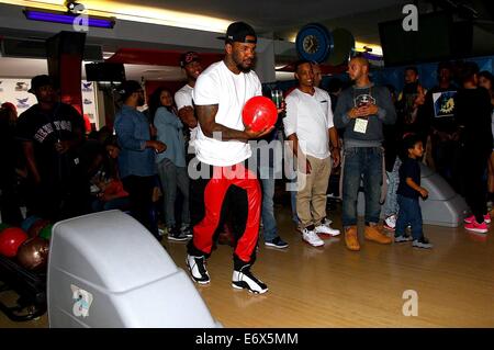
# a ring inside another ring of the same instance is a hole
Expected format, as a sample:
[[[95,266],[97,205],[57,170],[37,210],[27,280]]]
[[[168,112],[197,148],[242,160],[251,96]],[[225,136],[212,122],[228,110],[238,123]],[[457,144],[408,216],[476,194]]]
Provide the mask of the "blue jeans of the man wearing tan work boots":
[[[343,179],[343,225],[357,225],[357,200],[360,182],[366,193],[366,223],[379,223],[382,185],[381,147],[351,147],[345,149]]]

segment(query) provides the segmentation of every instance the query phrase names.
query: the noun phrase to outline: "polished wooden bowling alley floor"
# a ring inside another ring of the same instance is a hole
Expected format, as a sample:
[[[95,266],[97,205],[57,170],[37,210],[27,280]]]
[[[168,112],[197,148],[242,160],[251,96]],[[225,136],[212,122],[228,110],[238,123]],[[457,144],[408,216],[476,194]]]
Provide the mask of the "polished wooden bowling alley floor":
[[[362,250],[351,252],[343,237],[313,248],[301,240],[288,208],[277,206],[277,215],[290,247],[266,248],[261,240],[252,268],[268,293],[252,295],[231,286],[231,247],[218,246],[209,259],[211,284],[197,289],[223,326],[494,327],[494,228],[472,235],[461,227],[426,226],[431,250],[361,239]],[[329,216],[340,227],[339,215]],[[186,269],[186,245],[164,244]],[[418,294],[418,316],[403,315],[407,290]],[[46,315],[16,324],[0,314],[0,327],[46,326]]]

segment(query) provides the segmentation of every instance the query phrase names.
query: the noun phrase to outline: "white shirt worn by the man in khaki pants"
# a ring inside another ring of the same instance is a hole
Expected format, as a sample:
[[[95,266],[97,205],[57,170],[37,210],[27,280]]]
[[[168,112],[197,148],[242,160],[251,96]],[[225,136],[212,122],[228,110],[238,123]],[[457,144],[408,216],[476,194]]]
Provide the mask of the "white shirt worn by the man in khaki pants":
[[[287,97],[284,133],[287,136],[296,134],[299,146],[305,155],[325,159],[330,155],[328,129],[333,127],[332,99],[323,89],[314,89],[314,95],[294,89]]]

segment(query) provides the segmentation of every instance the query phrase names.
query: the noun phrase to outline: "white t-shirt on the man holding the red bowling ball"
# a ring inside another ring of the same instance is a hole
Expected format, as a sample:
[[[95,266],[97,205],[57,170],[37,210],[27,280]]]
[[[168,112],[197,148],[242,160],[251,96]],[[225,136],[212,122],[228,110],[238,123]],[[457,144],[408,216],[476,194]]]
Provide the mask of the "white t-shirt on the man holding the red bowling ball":
[[[261,94],[261,83],[254,70],[235,75],[222,60],[211,65],[199,76],[193,100],[195,105],[217,104],[216,123],[244,131],[242,109],[250,98]],[[201,126],[194,147],[200,161],[218,167],[239,163],[251,155],[248,143],[222,142],[207,137],[202,133]]]

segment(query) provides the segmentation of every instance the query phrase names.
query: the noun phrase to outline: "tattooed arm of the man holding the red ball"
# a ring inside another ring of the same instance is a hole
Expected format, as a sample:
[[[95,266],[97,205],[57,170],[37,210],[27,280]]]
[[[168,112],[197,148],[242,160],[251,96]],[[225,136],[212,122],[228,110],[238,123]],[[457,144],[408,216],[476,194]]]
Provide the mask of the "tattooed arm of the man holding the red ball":
[[[214,133],[221,133],[222,140],[237,139],[242,142],[247,142],[250,138],[258,138],[269,134],[273,127],[263,128],[260,132],[254,132],[250,127],[245,127],[245,131],[237,131],[235,128],[227,127],[223,124],[216,123],[216,113],[218,105],[197,105],[195,111],[199,118],[199,125],[201,125],[201,131],[207,137],[213,137]]]

